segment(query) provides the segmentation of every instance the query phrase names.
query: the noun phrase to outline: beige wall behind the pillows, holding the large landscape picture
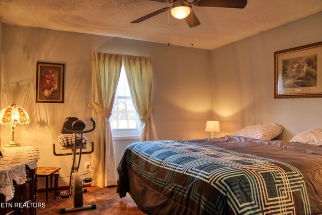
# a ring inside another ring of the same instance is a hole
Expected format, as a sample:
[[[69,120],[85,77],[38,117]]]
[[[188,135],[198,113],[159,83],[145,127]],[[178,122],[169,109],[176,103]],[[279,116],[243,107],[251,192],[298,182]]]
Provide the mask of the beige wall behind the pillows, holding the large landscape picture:
[[[322,128],[322,98],[274,99],[274,52],[322,41],[322,12],[220,47],[211,53],[212,119],[224,134],[280,123],[290,140]]]

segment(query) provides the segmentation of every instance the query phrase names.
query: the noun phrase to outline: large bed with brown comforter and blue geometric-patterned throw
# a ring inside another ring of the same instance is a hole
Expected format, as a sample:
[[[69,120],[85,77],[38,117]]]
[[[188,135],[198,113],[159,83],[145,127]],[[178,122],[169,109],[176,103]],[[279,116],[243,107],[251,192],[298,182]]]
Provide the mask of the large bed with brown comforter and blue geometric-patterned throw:
[[[322,148],[228,135],[129,145],[117,192],[147,214],[322,213]]]

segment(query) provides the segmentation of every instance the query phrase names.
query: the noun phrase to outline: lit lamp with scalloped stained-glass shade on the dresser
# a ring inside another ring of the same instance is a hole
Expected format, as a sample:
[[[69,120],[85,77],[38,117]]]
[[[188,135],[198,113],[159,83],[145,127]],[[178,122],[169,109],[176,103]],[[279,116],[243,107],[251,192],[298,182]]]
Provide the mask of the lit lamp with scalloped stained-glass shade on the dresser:
[[[14,141],[15,127],[20,125],[29,124],[29,116],[27,111],[16,105],[15,102],[12,105],[4,107],[0,111],[0,124],[11,127],[11,140],[4,145],[4,147],[18,147],[20,144]]]

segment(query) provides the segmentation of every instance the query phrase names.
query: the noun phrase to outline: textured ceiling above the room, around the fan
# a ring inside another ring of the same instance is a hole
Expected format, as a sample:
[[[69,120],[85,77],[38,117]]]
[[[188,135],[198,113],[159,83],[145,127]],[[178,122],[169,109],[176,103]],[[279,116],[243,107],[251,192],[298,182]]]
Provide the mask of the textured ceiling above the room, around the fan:
[[[193,6],[201,25],[192,31],[171,15],[169,28],[167,12],[130,23],[169,6],[147,0],[0,0],[0,21],[189,47],[193,41],[193,47],[211,50],[322,11],[321,0],[249,0],[245,9]]]

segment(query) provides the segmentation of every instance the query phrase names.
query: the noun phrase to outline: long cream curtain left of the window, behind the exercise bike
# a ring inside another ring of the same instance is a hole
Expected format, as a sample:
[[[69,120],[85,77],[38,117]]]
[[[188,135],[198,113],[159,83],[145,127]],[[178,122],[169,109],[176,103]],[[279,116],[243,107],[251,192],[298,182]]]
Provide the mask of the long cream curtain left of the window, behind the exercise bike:
[[[92,96],[89,107],[97,126],[93,131],[92,186],[117,184],[117,167],[109,118],[112,113],[117,83],[122,67],[122,55],[93,53]]]

